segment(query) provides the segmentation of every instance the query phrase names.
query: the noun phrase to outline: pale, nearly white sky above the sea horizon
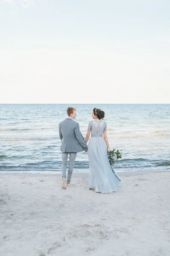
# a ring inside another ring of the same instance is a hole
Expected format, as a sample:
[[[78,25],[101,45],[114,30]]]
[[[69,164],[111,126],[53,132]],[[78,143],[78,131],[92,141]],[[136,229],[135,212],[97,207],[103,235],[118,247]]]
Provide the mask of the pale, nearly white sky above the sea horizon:
[[[0,0],[0,103],[170,103],[170,0]]]

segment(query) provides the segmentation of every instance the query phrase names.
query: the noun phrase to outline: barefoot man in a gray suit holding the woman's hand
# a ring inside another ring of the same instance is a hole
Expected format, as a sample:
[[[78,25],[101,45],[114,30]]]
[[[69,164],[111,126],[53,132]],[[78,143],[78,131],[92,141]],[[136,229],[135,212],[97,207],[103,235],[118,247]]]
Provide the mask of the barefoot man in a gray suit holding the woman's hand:
[[[77,116],[76,109],[73,107],[68,107],[67,114],[68,118],[59,123],[59,137],[60,140],[62,140],[62,189],[66,189],[67,185],[71,181],[74,161],[76,159],[77,152],[88,150],[88,146],[85,143],[85,140],[80,132],[79,123],[74,121],[74,119],[76,119]],[[70,154],[70,159],[66,184],[66,167],[68,153]]]

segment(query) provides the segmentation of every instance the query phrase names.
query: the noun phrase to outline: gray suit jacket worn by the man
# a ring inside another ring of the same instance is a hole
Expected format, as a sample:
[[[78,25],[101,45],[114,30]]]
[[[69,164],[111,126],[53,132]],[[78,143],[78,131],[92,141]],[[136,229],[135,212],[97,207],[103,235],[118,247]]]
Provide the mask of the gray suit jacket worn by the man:
[[[66,118],[59,123],[59,137],[62,140],[62,152],[80,152],[88,149],[79,129],[79,123]]]

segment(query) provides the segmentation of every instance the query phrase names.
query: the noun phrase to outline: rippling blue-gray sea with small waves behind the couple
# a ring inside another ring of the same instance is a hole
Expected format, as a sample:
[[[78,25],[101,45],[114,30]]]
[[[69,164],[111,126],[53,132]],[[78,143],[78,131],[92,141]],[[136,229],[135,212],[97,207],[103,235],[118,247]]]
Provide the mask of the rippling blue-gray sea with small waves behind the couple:
[[[85,138],[92,110],[105,112],[111,149],[122,150],[116,172],[170,171],[170,104],[1,104],[0,173],[61,171],[59,122],[67,108]],[[88,172],[88,154],[77,153],[74,172]]]

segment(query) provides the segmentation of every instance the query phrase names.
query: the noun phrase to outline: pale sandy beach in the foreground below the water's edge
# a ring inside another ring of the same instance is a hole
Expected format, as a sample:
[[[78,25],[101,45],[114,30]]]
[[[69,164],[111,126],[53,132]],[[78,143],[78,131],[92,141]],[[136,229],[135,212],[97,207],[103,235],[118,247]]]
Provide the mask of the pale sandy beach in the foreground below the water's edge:
[[[1,256],[170,256],[170,172],[124,176],[110,195],[87,174],[72,183],[0,175]]]

